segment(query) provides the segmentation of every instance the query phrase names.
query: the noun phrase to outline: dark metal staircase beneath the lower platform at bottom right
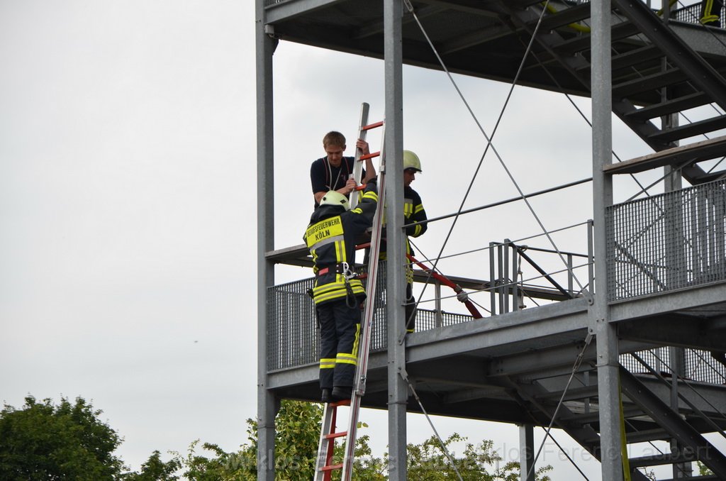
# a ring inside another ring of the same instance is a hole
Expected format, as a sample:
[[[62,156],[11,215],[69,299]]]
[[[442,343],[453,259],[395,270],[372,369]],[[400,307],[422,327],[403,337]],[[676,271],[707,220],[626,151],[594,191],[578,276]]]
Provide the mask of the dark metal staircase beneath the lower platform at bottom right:
[[[650,456],[629,458],[631,479],[648,480],[637,468],[665,464],[675,466],[678,479],[726,479],[726,456],[701,434],[723,434],[726,426],[723,411],[704,403],[699,395],[685,392],[679,395],[679,408],[672,408],[663,400],[670,396],[670,381],[651,372],[636,376],[626,368],[620,368],[625,442],[630,445],[661,440],[671,442],[672,447]],[[512,378],[507,379],[506,384],[512,390],[510,395],[529,413],[534,424],[546,426],[555,419],[553,427],[563,429],[588,453],[602,460],[595,366],[582,365],[575,374],[575,382],[566,390],[565,378]],[[709,407],[704,408],[704,404]],[[695,461],[701,461],[711,469],[714,477],[693,476],[690,466]]]

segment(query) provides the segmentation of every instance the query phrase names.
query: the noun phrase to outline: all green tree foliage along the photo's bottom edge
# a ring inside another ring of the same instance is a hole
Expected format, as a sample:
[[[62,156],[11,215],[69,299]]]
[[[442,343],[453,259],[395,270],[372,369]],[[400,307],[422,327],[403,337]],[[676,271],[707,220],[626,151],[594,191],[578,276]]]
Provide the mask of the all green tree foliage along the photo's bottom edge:
[[[254,481],[257,479],[257,423],[247,420],[248,443],[240,450],[227,453],[219,445],[200,443],[189,445],[187,453],[171,452],[171,459],[163,461],[155,450],[142,464],[139,472],[129,472],[113,452],[121,438],[107,424],[99,421],[102,411],[94,411],[81,397],[72,404],[62,398],[58,405],[46,399],[25,398],[23,409],[5,405],[0,413],[0,480],[8,481]],[[312,479],[322,421],[322,405],[283,400],[275,419],[275,472],[276,479]],[[356,440],[354,477],[358,480],[383,481],[388,477],[391,460],[386,453],[373,456],[370,436],[359,423]],[[461,445],[455,453],[454,445]],[[502,461],[494,443],[484,440],[476,445],[466,442],[459,434],[452,434],[444,447],[436,437],[421,444],[407,445],[408,477],[412,480],[457,480],[457,471],[464,481],[518,481],[519,464]],[[333,463],[339,463],[345,446],[335,445]],[[269,460],[266,456],[264,462]],[[453,462],[453,464],[452,464]],[[454,469],[456,466],[456,469]],[[552,466],[540,468],[537,481],[550,481],[544,473]],[[333,480],[340,480],[340,471],[333,472]]]

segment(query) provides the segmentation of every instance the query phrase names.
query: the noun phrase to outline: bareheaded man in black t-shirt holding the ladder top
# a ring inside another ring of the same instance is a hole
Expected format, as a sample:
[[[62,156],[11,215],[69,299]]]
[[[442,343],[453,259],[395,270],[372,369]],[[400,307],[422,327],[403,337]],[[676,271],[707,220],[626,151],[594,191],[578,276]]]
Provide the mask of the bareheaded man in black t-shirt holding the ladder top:
[[[343,157],[343,150],[346,150],[346,137],[340,132],[328,132],[322,138],[322,147],[325,149],[325,157],[317,159],[310,166],[310,183],[316,207],[329,190],[349,195],[356,188],[356,182],[351,177],[354,158]],[[363,155],[370,153],[368,142],[365,140],[358,139],[356,147],[362,151]],[[361,182],[365,184],[373,177],[375,177],[375,168],[371,159],[367,158]]]

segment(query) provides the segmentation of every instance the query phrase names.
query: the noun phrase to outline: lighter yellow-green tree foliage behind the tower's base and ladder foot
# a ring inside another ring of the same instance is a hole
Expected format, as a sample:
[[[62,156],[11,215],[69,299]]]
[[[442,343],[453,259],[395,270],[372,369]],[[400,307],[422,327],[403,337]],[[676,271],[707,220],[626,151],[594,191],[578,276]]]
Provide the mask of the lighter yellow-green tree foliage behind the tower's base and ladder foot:
[[[277,480],[309,480],[312,479],[317,456],[322,405],[301,401],[283,400],[280,411],[275,419],[277,437],[275,437],[275,471]],[[253,481],[257,473],[257,424],[247,420],[248,445],[242,445],[237,453],[225,453],[216,445],[204,444],[204,450],[211,451],[213,456],[207,458],[196,453],[198,441],[193,442],[189,453],[182,460],[184,476],[191,481]],[[367,425],[359,423],[360,430]],[[447,450],[451,450],[454,442],[465,442],[466,438],[452,434],[444,441]],[[387,479],[388,456],[383,458],[372,456],[368,434],[359,435],[356,440],[354,477],[358,480],[383,481]],[[519,463],[509,462],[499,466],[501,458],[493,450],[494,442],[484,440],[478,445],[465,444],[460,456],[452,453],[454,463],[464,481],[518,481]],[[345,446],[338,442],[335,445],[333,464],[338,464],[344,456]],[[407,445],[409,479],[412,480],[455,480],[458,479],[451,461],[444,453],[436,437],[424,441],[420,445]],[[537,470],[537,481],[550,481],[545,473],[552,466],[544,466]],[[333,480],[340,480],[340,471],[333,472]]]

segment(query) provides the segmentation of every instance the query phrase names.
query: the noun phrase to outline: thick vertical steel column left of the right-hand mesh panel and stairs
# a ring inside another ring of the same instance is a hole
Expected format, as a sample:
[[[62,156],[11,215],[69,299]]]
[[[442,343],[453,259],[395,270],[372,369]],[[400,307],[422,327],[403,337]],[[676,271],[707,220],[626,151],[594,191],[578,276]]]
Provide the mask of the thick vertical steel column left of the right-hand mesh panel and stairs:
[[[592,0],[592,201],[595,211],[595,296],[590,328],[597,336],[597,394],[600,400],[600,461],[603,480],[623,480],[620,450],[619,361],[615,326],[609,323],[608,251],[605,207],[613,203],[612,178],[603,166],[612,162],[611,1]]]

